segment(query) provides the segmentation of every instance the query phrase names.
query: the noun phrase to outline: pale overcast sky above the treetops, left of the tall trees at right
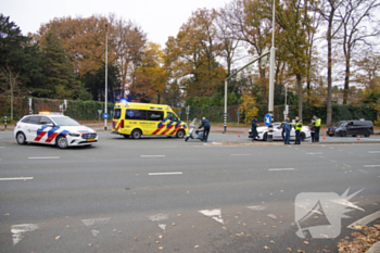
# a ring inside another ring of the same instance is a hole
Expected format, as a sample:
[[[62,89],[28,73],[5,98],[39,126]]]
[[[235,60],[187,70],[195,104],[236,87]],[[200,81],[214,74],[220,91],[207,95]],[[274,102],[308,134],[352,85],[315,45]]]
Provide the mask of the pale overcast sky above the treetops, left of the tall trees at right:
[[[219,9],[229,0],[0,0],[1,13],[10,16],[24,35],[36,33],[41,24],[54,17],[115,13],[135,21],[152,42],[165,46],[168,36],[199,8]]]

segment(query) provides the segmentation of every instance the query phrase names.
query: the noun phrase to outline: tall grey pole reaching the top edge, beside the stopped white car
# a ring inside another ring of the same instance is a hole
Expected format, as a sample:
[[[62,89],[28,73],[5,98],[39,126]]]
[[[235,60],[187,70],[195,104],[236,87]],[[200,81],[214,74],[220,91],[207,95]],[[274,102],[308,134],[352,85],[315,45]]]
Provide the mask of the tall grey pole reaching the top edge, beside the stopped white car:
[[[271,22],[271,48],[270,48],[270,72],[269,72],[269,101],[268,101],[268,114],[274,119],[274,102],[275,102],[275,10],[276,10],[276,0],[274,0],[274,10],[273,10],[273,22]],[[273,125],[269,125],[269,131],[267,136],[267,141],[271,142],[274,140],[273,136]]]

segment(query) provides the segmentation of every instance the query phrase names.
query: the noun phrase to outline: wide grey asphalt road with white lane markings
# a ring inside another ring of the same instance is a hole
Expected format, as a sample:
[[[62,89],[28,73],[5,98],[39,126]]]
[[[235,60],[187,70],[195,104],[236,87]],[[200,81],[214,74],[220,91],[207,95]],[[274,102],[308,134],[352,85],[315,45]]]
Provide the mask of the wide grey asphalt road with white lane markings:
[[[379,144],[99,136],[60,150],[0,132],[0,252],[335,252],[350,224],[380,210]],[[296,236],[300,194],[347,189],[362,191],[339,205],[350,218],[333,213],[337,238]]]

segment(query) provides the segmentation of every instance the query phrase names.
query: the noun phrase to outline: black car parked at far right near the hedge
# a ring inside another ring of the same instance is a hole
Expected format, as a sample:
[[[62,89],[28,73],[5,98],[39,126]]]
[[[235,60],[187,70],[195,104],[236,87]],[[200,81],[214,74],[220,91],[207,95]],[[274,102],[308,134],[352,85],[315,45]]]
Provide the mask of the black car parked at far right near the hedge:
[[[371,121],[342,121],[337,122],[332,127],[327,129],[328,136],[365,136],[373,135],[373,123]]]

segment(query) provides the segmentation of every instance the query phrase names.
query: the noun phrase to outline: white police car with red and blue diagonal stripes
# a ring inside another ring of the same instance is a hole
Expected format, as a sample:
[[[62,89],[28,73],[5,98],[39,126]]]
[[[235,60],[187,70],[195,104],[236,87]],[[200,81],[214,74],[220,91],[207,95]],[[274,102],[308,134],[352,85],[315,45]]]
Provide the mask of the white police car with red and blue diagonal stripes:
[[[26,115],[14,127],[18,144],[27,142],[56,144],[61,149],[71,146],[91,146],[98,142],[97,132],[61,113]]]

